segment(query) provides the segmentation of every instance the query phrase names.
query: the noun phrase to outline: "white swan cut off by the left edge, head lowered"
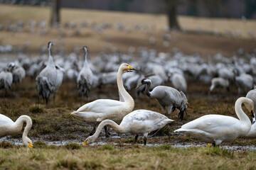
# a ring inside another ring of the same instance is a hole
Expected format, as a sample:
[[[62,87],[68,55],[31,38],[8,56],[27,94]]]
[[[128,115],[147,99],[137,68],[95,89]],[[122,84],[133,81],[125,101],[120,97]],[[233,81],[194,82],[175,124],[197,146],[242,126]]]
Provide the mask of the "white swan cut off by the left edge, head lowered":
[[[33,147],[31,139],[28,138],[28,132],[32,126],[32,120],[28,115],[21,115],[15,122],[6,115],[0,114],[0,137],[6,135],[16,135],[21,132],[23,123],[26,123],[24,128],[22,141],[26,147]]]

